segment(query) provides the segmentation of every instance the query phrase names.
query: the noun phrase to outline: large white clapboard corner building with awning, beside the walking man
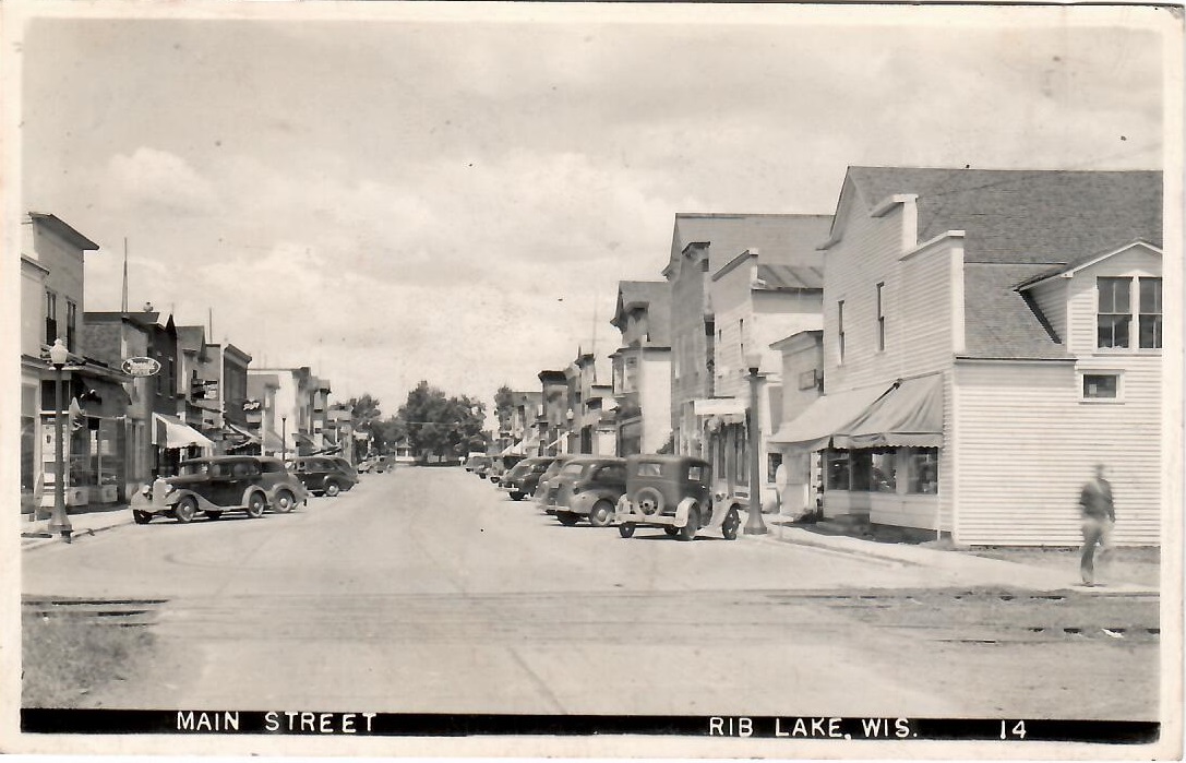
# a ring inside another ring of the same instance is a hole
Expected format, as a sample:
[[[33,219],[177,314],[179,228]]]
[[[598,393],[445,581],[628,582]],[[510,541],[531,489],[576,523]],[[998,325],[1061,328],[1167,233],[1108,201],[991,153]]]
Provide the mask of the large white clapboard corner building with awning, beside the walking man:
[[[823,396],[774,435],[829,516],[965,545],[1159,541],[1160,172],[850,167],[824,252]],[[1175,253],[1180,256],[1180,253]]]

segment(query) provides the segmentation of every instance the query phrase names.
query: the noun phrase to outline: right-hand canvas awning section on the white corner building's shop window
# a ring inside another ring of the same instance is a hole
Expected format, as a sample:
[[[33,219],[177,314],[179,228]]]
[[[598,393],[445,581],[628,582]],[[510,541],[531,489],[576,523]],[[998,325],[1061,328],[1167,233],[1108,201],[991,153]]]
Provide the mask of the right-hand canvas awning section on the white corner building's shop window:
[[[942,447],[943,375],[907,379],[833,433],[833,446]]]

